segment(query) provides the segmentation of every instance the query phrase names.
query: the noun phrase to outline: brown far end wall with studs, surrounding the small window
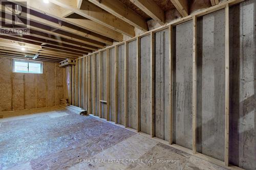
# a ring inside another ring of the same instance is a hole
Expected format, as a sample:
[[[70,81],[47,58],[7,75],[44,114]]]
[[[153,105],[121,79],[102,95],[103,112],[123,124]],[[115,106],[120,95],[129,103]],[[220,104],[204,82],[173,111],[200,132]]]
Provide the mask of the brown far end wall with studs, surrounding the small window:
[[[43,62],[43,74],[13,72],[13,59],[0,58],[0,111],[58,106],[65,69]],[[66,90],[65,90],[66,91]]]

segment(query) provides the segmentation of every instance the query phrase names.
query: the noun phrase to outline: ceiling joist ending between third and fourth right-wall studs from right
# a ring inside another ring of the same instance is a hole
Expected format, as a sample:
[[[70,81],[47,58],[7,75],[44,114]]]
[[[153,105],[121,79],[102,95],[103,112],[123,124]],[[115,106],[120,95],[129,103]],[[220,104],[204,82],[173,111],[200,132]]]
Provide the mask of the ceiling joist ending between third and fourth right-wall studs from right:
[[[164,11],[153,0],[130,0],[148,16],[156,20],[160,25],[165,24]]]

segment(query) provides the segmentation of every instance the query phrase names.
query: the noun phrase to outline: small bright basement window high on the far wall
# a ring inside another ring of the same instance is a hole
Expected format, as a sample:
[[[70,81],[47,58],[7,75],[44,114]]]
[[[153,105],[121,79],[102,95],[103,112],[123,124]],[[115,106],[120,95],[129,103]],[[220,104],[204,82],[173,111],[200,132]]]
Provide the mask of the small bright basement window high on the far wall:
[[[42,63],[22,60],[13,60],[13,71],[23,73],[42,74]]]

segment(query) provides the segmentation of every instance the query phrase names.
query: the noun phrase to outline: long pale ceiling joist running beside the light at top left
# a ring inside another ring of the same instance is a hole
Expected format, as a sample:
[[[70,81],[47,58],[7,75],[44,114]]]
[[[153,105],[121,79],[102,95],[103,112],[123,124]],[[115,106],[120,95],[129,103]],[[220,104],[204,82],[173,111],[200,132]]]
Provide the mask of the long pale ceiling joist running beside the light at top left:
[[[15,2],[15,3],[26,6],[26,4],[24,4],[22,2]],[[68,9],[62,8],[58,5],[55,5],[52,3],[45,5],[41,0],[33,0],[33,1],[30,1],[28,8],[38,11],[40,13],[47,14],[51,17],[60,19],[62,21],[68,22],[68,23],[75,25],[77,27],[80,27],[82,29],[89,30],[93,33],[97,33],[97,34],[103,35],[105,37],[115,39],[117,41],[122,41],[121,33],[117,32],[115,30],[112,30],[108,27],[102,26],[101,24],[99,24],[95,21],[92,21],[89,19],[72,19],[72,18],[62,17],[62,14],[64,12],[66,12]],[[70,11],[72,11],[72,10],[70,10]]]

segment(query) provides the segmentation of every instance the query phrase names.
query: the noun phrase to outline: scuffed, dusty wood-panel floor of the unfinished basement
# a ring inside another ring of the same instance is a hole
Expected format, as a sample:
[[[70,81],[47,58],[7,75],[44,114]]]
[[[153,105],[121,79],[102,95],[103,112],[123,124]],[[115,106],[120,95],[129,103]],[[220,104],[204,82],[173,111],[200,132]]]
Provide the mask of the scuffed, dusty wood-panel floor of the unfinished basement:
[[[0,169],[225,169],[62,108],[0,119]],[[160,163],[161,162],[161,163]]]

